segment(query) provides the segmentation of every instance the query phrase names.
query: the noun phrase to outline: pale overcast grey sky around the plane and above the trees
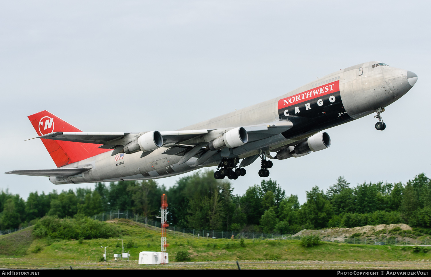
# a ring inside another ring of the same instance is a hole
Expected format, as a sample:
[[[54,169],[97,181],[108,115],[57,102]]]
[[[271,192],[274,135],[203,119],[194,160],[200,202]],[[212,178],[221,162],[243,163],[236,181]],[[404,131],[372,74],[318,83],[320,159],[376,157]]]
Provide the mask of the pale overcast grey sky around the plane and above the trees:
[[[418,82],[382,114],[328,130],[329,149],[274,161],[287,194],[339,175],[405,183],[430,174],[427,1],[1,1],[1,172],[55,168],[27,116],[48,110],[83,131],[168,131],[379,60]],[[232,180],[257,184],[258,162]],[[179,176],[159,179],[167,187]],[[0,174],[25,199],[94,184]]]

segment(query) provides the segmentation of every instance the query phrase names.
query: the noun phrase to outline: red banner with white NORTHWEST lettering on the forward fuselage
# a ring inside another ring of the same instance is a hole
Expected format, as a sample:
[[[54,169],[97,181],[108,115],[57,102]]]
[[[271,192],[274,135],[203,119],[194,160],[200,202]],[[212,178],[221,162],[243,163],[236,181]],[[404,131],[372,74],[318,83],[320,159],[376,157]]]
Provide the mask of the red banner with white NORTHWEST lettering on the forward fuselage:
[[[320,87],[315,87],[312,90],[307,90],[287,98],[278,100],[278,109],[284,109],[287,106],[299,104],[301,102],[309,101],[320,96],[340,91],[340,81],[337,80],[332,83],[324,84]],[[332,102],[332,101],[331,101]],[[321,105],[319,105],[321,106]]]

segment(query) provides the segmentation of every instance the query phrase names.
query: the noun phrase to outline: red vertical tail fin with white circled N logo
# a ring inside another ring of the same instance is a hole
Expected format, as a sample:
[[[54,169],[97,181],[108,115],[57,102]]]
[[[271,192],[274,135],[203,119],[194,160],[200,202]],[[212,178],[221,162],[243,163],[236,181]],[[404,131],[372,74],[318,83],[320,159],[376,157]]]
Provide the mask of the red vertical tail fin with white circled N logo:
[[[52,132],[81,132],[78,128],[72,126],[66,121],[56,117],[48,111],[42,111],[29,115],[31,124],[36,130],[38,136]],[[100,144],[78,143],[61,140],[41,139],[55,162],[57,167],[68,165],[87,159],[97,154],[104,153],[110,149],[98,149]]]

